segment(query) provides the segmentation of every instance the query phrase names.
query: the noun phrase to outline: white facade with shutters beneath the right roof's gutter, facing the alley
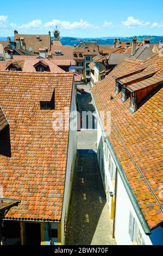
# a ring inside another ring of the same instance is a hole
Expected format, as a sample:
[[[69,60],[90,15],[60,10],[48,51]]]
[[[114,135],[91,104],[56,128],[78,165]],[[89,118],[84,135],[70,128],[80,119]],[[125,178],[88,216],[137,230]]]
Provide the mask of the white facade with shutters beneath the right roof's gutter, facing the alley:
[[[96,108],[94,99],[93,103]],[[98,112],[97,108],[96,111]],[[132,198],[129,183],[119,171],[120,164],[103,130],[98,113],[97,117],[97,158],[117,245],[163,245],[161,226],[154,230],[149,229],[136,198]]]

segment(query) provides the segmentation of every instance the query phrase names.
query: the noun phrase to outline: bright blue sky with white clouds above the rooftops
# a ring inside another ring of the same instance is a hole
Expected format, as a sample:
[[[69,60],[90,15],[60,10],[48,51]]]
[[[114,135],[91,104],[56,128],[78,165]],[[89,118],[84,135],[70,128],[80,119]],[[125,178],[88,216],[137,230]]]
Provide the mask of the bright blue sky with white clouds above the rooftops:
[[[12,36],[15,29],[47,34],[56,25],[61,36],[163,35],[162,9],[162,0],[1,0],[0,36]]]

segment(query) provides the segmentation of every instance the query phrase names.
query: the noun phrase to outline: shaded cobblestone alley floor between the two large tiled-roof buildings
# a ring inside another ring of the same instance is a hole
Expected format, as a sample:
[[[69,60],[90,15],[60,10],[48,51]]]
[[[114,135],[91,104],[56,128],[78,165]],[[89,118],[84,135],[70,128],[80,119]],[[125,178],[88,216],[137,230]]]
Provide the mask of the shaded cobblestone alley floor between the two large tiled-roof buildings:
[[[78,166],[67,222],[67,245],[115,245],[96,154],[78,151]]]

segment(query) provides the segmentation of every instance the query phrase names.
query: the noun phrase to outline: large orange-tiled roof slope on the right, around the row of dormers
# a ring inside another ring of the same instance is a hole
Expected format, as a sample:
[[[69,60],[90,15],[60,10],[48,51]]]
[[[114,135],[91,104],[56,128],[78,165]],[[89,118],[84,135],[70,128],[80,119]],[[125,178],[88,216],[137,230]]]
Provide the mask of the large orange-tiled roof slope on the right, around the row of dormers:
[[[131,114],[128,110],[130,99],[122,103],[121,93],[115,95],[116,84],[113,78],[127,74],[129,77],[131,72],[140,70],[141,66],[144,68],[153,66],[159,70],[156,72],[157,75],[163,71],[163,56],[154,56],[146,62],[123,60],[103,81],[95,84],[92,93],[98,111],[111,112],[111,134],[108,134],[110,143],[142,214],[149,227],[155,228],[163,221],[160,206],[163,198],[159,196],[163,181],[161,158],[163,88]],[[110,100],[111,96],[112,100]]]

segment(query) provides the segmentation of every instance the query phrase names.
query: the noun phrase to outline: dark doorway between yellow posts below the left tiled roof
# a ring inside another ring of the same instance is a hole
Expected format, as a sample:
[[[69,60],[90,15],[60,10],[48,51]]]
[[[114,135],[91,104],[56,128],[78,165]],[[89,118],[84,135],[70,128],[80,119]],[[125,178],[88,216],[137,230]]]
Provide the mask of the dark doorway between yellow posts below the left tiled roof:
[[[41,245],[41,224],[25,223],[25,245]]]

